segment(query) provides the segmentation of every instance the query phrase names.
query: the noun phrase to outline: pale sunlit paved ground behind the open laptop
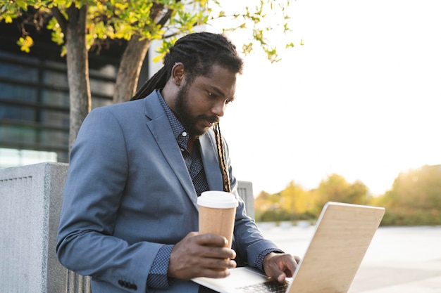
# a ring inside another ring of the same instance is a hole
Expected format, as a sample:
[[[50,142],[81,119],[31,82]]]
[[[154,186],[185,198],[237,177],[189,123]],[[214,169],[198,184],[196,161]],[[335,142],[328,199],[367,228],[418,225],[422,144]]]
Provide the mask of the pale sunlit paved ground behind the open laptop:
[[[258,223],[282,249],[303,256],[314,227]],[[380,227],[349,293],[441,293],[441,226]]]

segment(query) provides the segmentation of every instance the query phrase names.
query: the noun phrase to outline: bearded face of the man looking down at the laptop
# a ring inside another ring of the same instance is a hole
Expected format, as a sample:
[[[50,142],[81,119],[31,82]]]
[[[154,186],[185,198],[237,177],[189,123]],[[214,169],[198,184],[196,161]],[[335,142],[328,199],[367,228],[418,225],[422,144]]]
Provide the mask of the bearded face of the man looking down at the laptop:
[[[205,134],[213,123],[219,122],[228,103],[234,100],[237,73],[213,65],[208,76],[184,82],[175,100],[175,114],[190,137]]]

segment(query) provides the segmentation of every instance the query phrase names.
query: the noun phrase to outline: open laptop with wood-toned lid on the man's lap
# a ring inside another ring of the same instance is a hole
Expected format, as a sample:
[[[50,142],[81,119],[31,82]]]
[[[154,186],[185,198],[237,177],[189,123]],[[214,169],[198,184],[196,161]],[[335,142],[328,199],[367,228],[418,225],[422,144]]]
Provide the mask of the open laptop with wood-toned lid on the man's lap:
[[[192,280],[221,293],[347,293],[384,214],[383,207],[326,203],[302,261],[282,284],[251,267],[232,268],[227,278]]]

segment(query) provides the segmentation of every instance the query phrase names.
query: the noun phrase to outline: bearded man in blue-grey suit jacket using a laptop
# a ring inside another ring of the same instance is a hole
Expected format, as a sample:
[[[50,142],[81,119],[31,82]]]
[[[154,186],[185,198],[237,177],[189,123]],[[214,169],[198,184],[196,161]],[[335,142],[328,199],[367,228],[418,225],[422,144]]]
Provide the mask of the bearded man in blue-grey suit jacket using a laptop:
[[[191,278],[225,278],[237,263],[278,281],[292,276],[299,259],[263,239],[245,214],[218,129],[241,72],[228,39],[189,34],[132,101],[85,119],[71,150],[57,254],[92,276],[92,292],[203,292]],[[232,249],[224,237],[194,232],[205,190],[240,200]]]

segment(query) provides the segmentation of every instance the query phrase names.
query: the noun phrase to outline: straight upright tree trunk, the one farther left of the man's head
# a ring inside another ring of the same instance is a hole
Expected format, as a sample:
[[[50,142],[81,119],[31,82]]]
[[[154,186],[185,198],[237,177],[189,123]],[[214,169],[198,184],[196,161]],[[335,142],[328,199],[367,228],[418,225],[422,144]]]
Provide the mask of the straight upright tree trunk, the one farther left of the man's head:
[[[70,98],[69,152],[92,104],[86,48],[86,16],[86,5],[80,9],[75,8],[75,5],[68,8],[66,48]]]

